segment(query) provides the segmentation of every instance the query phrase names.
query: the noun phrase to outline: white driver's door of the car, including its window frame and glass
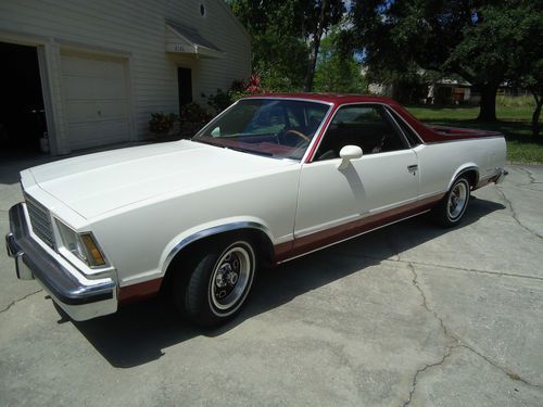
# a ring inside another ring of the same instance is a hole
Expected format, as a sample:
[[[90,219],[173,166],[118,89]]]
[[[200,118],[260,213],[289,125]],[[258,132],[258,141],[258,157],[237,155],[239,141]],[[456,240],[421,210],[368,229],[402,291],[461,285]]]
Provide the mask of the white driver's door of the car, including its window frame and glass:
[[[357,145],[363,156],[339,168],[339,152]],[[302,167],[294,247],[354,236],[368,220],[386,221],[417,201],[417,155],[379,105],[336,113],[314,161]],[[376,215],[376,216],[374,216]]]

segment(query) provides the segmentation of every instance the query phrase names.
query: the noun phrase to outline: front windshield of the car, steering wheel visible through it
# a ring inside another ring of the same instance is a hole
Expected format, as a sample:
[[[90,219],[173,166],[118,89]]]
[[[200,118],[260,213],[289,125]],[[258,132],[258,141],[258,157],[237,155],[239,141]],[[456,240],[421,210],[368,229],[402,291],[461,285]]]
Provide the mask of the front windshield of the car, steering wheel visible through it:
[[[329,105],[287,99],[242,99],[192,140],[275,158],[301,160]]]

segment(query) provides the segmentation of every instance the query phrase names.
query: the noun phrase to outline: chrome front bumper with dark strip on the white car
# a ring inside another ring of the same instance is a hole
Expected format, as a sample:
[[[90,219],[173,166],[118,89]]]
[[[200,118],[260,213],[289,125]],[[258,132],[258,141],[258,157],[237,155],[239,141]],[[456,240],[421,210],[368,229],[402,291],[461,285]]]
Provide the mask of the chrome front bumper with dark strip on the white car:
[[[17,278],[37,279],[72,319],[81,321],[117,310],[115,280],[87,279],[60,254],[38,243],[30,232],[26,204],[10,209],[10,230],[5,245],[15,259]]]

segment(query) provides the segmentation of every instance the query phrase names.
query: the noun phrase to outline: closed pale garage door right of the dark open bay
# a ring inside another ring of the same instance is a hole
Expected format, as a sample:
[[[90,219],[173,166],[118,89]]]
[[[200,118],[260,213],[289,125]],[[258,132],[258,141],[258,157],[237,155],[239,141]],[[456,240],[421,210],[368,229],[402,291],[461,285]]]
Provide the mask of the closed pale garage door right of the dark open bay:
[[[130,139],[123,60],[62,55],[62,84],[72,150]]]

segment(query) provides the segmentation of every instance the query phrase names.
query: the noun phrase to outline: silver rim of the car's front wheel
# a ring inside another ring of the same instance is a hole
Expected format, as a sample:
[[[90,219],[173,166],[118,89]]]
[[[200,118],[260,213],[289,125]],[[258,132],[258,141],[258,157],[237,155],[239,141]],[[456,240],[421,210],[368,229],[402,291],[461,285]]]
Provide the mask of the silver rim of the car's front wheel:
[[[222,315],[236,310],[249,291],[253,256],[245,247],[230,246],[215,264],[210,280],[210,301]],[[233,308],[233,309],[232,309]]]

